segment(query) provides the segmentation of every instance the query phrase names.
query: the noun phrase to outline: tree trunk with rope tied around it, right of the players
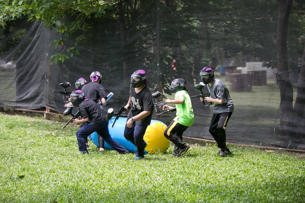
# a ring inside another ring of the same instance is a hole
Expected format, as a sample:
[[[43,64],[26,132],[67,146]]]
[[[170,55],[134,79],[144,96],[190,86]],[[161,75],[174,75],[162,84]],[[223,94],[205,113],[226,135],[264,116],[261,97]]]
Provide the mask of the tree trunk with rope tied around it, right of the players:
[[[287,36],[288,36],[288,24],[289,14],[293,0],[278,0],[278,19],[276,30],[276,46],[277,46],[277,63],[278,73],[288,72],[288,51],[287,51]],[[278,75],[279,76],[279,75]],[[289,74],[284,74],[281,78],[278,78],[281,104],[280,104],[280,125],[281,125],[281,146],[289,148],[291,142],[291,130],[292,130],[292,101],[293,101],[293,89],[289,81]]]

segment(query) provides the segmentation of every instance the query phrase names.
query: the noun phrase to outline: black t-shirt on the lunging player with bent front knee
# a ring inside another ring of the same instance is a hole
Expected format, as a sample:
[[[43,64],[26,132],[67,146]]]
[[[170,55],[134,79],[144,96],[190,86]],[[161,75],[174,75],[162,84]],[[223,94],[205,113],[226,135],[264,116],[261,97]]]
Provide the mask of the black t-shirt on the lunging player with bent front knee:
[[[107,122],[106,114],[93,100],[82,100],[78,106],[83,118],[88,118],[91,124]]]

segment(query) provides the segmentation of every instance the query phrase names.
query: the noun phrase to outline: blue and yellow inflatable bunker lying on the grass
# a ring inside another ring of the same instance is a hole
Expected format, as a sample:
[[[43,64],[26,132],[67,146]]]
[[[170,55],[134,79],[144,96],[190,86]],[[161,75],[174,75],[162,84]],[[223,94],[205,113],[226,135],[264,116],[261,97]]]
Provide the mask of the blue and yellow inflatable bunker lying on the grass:
[[[126,124],[126,117],[119,117],[119,119],[115,122],[113,128],[111,128],[113,121],[116,117],[112,117],[109,120],[108,128],[109,134],[111,137],[117,141],[120,145],[126,148],[128,151],[134,153],[137,148],[131,142],[127,141],[124,138],[124,129]],[[163,132],[167,128],[167,126],[161,122],[152,120],[150,125],[147,127],[144,141],[147,142],[147,147],[145,148],[145,154],[154,154],[156,152],[165,152],[169,146],[170,141],[164,137]],[[92,142],[99,147],[98,135],[96,132],[91,134]],[[107,142],[104,145],[105,149],[114,150]]]

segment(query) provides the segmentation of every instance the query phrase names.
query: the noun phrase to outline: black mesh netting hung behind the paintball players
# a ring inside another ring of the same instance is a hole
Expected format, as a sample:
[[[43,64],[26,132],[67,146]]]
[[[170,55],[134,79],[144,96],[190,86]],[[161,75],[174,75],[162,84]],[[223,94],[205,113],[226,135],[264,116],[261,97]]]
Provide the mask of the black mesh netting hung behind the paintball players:
[[[173,98],[169,94],[169,82],[182,77],[187,81],[188,93],[194,96],[200,94],[193,89],[200,82],[200,69],[209,65],[215,68],[215,76],[227,85],[235,105],[226,128],[228,142],[305,149],[304,131],[289,136],[281,131],[274,42],[276,4],[245,6],[231,2],[232,5],[222,10],[201,1],[189,1],[195,3],[192,6],[185,3],[182,9],[178,4],[161,4],[156,17],[156,3],[149,2],[146,1],[123,28],[119,19],[88,20],[85,33],[74,33],[74,36],[84,34],[77,45],[80,55],[74,54],[64,63],[49,60],[74,44],[73,40],[55,49],[50,44],[60,36],[46,29],[41,21],[21,19],[9,23],[0,30],[0,107],[29,110],[47,107],[63,112],[63,95],[52,92],[64,91],[59,83],[70,82],[66,90],[71,92],[78,78],[90,81],[90,73],[99,71],[106,93],[114,93],[104,110],[111,107],[117,111],[128,101],[130,75],[138,68],[147,72],[152,92],[161,91],[157,89],[159,82],[163,95]],[[247,16],[241,11],[236,14],[238,9],[244,9]],[[160,33],[156,29],[157,20],[160,20]],[[157,35],[160,52],[156,49]],[[289,61],[294,100],[301,57],[300,52]],[[192,99],[192,104],[195,123],[184,135],[213,140],[208,131],[213,106],[203,107],[199,98]],[[154,114],[153,119],[169,124],[174,115]],[[303,125],[301,115],[295,119]]]

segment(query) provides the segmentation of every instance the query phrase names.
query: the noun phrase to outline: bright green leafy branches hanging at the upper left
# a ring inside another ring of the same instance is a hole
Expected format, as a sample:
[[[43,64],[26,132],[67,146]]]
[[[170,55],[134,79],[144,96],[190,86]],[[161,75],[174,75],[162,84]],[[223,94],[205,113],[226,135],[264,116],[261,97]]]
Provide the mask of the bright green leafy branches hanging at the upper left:
[[[0,3],[0,24],[2,27],[7,25],[7,22],[27,16],[28,21],[42,20],[46,28],[56,29],[57,33],[62,33],[63,37],[59,37],[52,41],[52,45],[64,45],[68,38],[73,38],[74,45],[67,47],[65,53],[60,52],[51,57],[54,57],[54,62],[58,60],[64,62],[74,54],[79,54],[77,44],[84,37],[73,36],[77,30],[86,31],[86,19],[100,18],[111,10],[112,6],[107,1],[71,1],[71,0],[29,0],[29,1],[9,1],[3,0]],[[68,16],[74,17],[73,21],[63,21]]]

